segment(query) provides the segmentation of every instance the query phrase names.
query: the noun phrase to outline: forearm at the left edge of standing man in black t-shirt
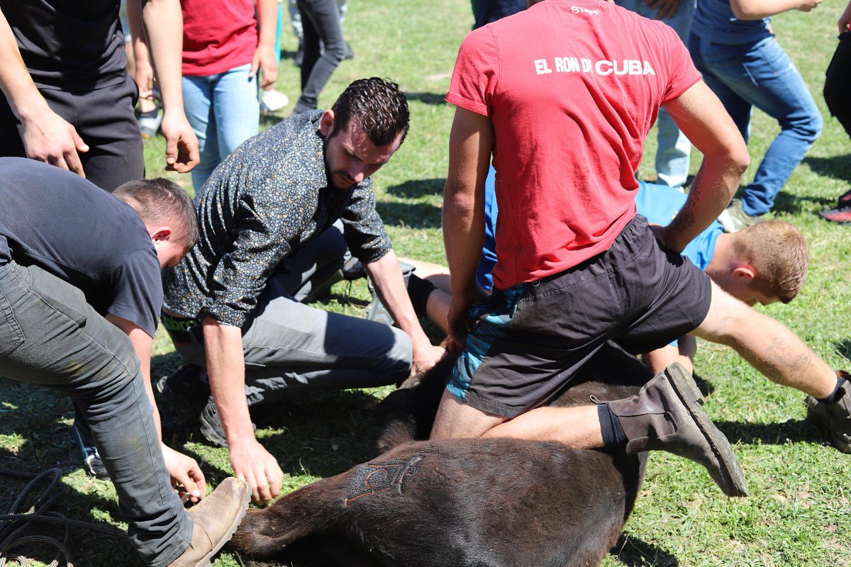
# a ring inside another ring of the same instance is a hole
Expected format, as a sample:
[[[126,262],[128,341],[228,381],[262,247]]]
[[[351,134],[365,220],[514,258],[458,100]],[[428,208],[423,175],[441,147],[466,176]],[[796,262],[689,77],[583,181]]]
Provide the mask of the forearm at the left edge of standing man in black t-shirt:
[[[48,104],[32,82],[24,60],[20,56],[18,43],[12,28],[0,12],[0,89],[6,95],[9,106],[21,122],[48,110]]]

